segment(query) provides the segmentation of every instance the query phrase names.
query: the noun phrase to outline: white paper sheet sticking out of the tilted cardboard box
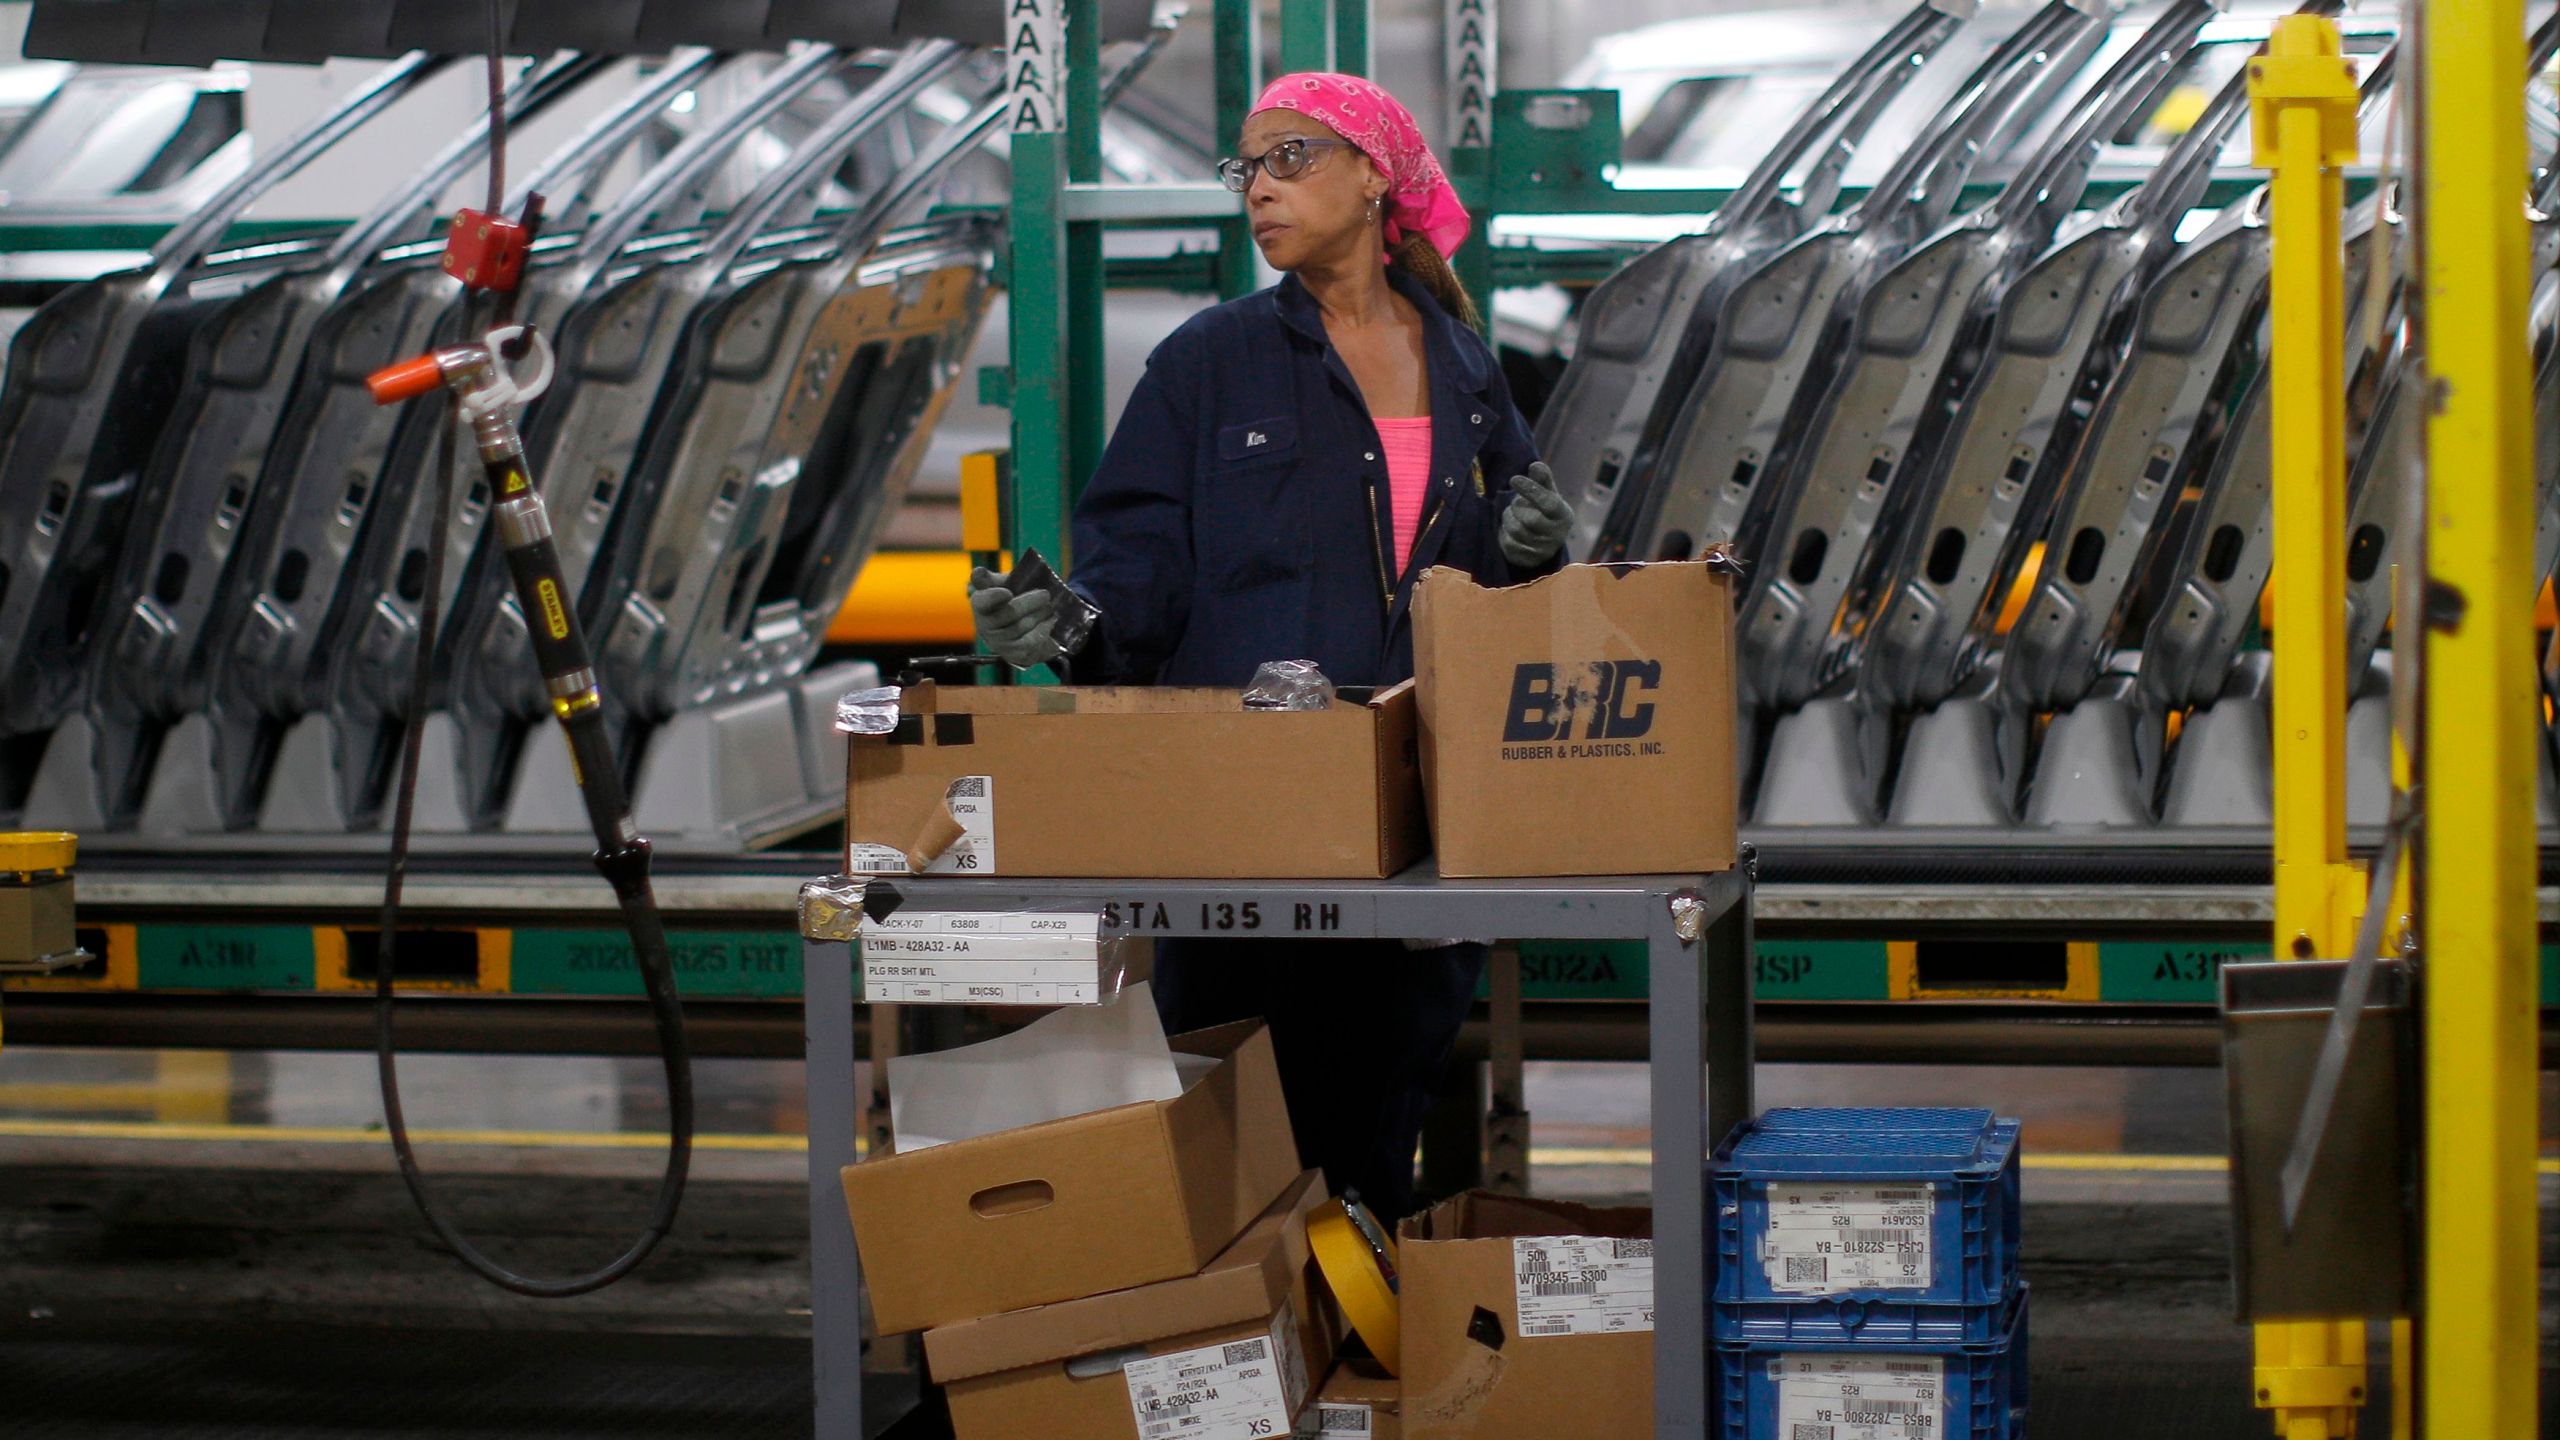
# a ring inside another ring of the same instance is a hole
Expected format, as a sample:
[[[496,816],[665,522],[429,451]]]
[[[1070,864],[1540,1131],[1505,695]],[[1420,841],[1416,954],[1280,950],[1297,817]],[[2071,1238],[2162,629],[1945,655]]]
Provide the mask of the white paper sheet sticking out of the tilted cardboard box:
[[[1114,1104],[1175,1099],[1185,1084],[1155,994],[1132,984],[1116,1004],[1057,1010],[1011,1035],[888,1061],[888,1125],[901,1153],[929,1150]]]

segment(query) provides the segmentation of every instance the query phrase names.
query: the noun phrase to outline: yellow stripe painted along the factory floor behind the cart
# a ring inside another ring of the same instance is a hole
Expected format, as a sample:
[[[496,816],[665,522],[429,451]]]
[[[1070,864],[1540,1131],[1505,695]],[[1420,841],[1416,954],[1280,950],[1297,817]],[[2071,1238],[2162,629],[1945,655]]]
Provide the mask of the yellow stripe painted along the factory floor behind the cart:
[[[384,1133],[361,1125],[161,1125],[148,1120],[0,1120],[0,1138],[20,1140],[248,1140],[269,1145],[379,1145]],[[663,1150],[666,1135],[645,1130],[410,1130],[420,1145],[507,1145],[520,1150]],[[801,1135],[694,1135],[696,1150],[748,1150],[796,1156],[809,1150]],[[1531,1166],[1631,1166],[1649,1168],[1654,1150],[1641,1145],[1533,1145]],[[2030,1171],[2130,1171],[2130,1174],[2222,1174],[2222,1156],[2025,1156]],[[2560,1176],[2560,1158],[2540,1161],[2542,1174]]]

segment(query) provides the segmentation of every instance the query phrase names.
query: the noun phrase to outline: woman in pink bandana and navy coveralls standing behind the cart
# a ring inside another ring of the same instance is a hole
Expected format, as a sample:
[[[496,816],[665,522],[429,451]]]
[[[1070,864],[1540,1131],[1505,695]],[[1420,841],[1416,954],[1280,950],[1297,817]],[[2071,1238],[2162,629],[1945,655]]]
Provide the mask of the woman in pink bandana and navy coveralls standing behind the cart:
[[[1533,579],[1572,510],[1449,269],[1467,210],[1393,95],[1275,79],[1219,174],[1283,279],[1149,356],[1075,510],[1070,584],[1101,610],[1075,679],[1242,687],[1303,659],[1395,684],[1423,569]],[[970,605],[988,653],[1060,659],[1050,594],[978,571]],[[1155,986],[1172,1030],[1267,1017],[1306,1163],[1393,1220],[1482,966],[1459,943],[1183,940]]]

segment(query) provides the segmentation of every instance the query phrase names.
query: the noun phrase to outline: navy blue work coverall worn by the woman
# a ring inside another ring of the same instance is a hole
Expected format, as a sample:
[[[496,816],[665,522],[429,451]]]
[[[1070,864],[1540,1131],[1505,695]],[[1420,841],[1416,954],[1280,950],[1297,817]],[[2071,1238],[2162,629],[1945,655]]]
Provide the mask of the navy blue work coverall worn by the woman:
[[[1075,510],[1073,584],[1103,623],[1078,682],[1239,687],[1262,661],[1334,684],[1413,674],[1413,579],[1518,584],[1498,546],[1536,459],[1485,341],[1408,274],[1423,318],[1431,492],[1393,566],[1377,425],[1298,277],[1203,310],[1147,359]],[[1239,822],[1252,817],[1239,815]],[[1485,969],[1482,945],[1180,940],[1157,945],[1172,1030],[1265,1017],[1303,1163],[1385,1217],[1413,1209],[1413,1145]]]

